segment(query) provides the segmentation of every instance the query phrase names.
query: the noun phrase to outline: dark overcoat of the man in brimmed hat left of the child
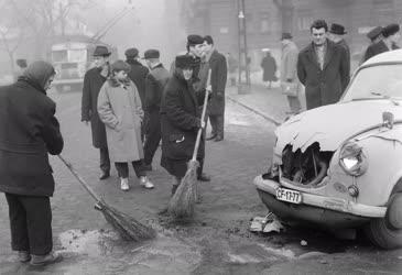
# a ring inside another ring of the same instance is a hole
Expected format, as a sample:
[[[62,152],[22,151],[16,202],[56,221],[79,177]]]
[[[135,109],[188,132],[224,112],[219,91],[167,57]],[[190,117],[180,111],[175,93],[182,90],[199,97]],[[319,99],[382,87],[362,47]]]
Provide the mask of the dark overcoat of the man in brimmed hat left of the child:
[[[100,68],[91,68],[85,74],[82,99],[82,121],[90,121],[93,145],[96,148],[108,146],[105,124],[101,122],[97,109],[99,91],[107,79],[100,75]]]

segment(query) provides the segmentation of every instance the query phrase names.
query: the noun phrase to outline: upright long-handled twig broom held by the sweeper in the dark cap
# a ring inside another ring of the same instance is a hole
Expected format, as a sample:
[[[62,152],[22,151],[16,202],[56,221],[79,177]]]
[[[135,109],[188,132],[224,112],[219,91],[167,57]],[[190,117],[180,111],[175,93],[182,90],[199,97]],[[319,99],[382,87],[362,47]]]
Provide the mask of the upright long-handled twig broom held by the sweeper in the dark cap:
[[[208,80],[210,80],[210,69],[208,72]],[[200,121],[203,123],[205,119],[205,112],[208,103],[208,91],[205,92],[203,113]],[[194,213],[194,205],[197,200],[197,168],[199,163],[197,162],[197,153],[203,134],[203,128],[198,129],[197,139],[194,146],[193,157],[187,164],[187,172],[182,178],[182,183],[176,189],[176,193],[169,202],[167,211],[175,218],[189,218]]]

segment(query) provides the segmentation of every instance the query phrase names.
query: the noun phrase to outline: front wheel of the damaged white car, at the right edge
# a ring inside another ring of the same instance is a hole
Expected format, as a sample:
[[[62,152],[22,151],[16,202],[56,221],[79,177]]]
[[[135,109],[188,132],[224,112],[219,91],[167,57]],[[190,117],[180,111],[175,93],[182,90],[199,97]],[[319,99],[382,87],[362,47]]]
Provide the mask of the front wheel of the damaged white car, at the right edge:
[[[385,250],[402,246],[402,193],[391,196],[385,217],[371,220],[365,228],[370,241]]]

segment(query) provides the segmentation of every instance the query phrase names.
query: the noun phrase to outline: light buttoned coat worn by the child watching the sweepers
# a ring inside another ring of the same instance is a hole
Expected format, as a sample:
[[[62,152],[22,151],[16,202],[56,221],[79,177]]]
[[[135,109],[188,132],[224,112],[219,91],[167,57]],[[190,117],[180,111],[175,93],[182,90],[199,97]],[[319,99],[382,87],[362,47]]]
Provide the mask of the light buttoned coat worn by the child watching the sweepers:
[[[108,80],[100,89],[98,113],[106,125],[110,161],[133,162],[143,158],[141,121],[144,112],[135,85],[126,87]]]

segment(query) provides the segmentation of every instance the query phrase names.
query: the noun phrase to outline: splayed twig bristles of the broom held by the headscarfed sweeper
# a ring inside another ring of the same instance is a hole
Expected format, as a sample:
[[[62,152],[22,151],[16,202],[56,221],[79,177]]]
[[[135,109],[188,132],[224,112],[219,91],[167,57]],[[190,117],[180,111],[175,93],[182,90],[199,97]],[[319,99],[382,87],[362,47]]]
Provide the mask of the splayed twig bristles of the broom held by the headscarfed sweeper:
[[[98,202],[97,209],[102,212],[105,219],[119,232],[126,241],[143,241],[152,239],[156,232],[127,213],[108,206],[105,201]]]

